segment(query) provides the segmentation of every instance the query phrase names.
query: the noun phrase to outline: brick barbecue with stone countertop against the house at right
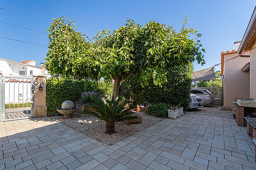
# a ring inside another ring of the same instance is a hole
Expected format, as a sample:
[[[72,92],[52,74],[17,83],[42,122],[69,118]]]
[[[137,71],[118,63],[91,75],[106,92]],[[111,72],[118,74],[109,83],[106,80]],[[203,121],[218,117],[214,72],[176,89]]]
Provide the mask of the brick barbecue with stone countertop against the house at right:
[[[256,100],[237,100],[236,102],[236,124],[244,127],[244,117],[255,113]]]

